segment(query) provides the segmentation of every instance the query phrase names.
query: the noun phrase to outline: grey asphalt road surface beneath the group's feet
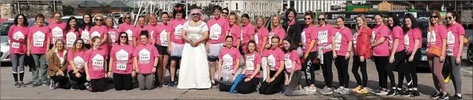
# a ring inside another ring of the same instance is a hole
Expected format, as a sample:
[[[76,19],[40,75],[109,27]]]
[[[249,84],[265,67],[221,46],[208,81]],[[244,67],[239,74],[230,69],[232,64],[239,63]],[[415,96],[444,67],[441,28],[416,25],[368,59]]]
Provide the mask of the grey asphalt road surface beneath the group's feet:
[[[371,90],[378,86],[378,73],[376,73],[376,67],[371,61],[367,61],[368,64],[368,87]],[[27,67],[26,67],[27,68]],[[5,66],[0,68],[0,99],[428,99],[430,95],[435,92],[432,84],[432,75],[428,68],[419,69],[419,97],[389,97],[389,96],[378,96],[374,94],[358,95],[351,93],[349,95],[339,95],[334,93],[332,95],[309,95],[299,97],[286,97],[283,94],[275,95],[259,95],[253,92],[249,95],[242,94],[231,94],[229,92],[219,92],[218,88],[211,88],[208,90],[178,90],[176,88],[155,88],[154,90],[122,90],[117,91],[113,89],[113,86],[109,86],[106,92],[89,92],[87,90],[65,90],[56,89],[49,90],[47,86],[39,86],[36,88],[31,87],[32,84],[32,73],[27,71],[25,74],[25,84],[27,87],[14,88],[13,78],[11,74],[11,66]],[[338,75],[335,66],[332,68],[334,73],[334,87],[338,87]],[[351,70],[351,63],[349,64],[349,70]],[[473,99],[472,90],[472,76],[473,76],[472,64],[469,64],[463,60],[461,68],[462,86],[463,86],[463,99]],[[316,71],[316,87],[318,90],[323,88],[324,82],[321,71]],[[397,72],[394,72],[397,81]],[[352,73],[350,75],[349,87],[355,88],[356,80]],[[169,74],[166,76],[170,79]],[[301,80],[303,81],[303,80]],[[302,82],[304,83],[304,82]],[[397,82],[396,82],[397,83]],[[406,86],[406,84],[404,84]],[[452,82],[447,85],[448,92],[453,94],[454,88]]]

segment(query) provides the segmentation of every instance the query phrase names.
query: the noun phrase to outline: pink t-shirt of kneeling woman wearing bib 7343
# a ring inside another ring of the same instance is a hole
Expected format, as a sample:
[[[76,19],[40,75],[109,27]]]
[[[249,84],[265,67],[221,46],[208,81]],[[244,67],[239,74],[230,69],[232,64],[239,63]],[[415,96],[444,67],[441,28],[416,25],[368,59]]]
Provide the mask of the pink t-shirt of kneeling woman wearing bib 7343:
[[[85,52],[85,60],[89,66],[89,75],[91,79],[100,79],[105,77],[105,67],[107,57],[106,49],[89,49]]]

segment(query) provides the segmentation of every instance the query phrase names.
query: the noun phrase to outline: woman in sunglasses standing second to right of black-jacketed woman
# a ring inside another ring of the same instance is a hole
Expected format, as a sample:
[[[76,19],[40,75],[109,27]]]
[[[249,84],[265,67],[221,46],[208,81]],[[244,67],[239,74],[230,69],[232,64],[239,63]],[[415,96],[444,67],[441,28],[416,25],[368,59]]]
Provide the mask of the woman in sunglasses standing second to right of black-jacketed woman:
[[[328,25],[327,15],[319,14],[319,27],[316,27],[318,58],[322,68],[325,87],[320,91],[321,94],[332,94],[332,83],[334,75],[332,74],[332,61],[336,58],[334,32],[332,25]]]

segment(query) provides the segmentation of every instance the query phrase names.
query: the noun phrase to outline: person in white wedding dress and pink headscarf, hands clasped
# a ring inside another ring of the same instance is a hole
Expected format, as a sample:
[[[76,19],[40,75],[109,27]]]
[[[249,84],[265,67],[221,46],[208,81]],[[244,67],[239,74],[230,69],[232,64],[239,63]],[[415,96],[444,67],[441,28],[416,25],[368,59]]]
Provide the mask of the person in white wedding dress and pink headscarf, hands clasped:
[[[179,71],[178,89],[210,88],[209,62],[205,51],[205,40],[209,37],[207,23],[202,21],[202,12],[191,10],[191,21],[183,25],[181,37],[185,41]]]

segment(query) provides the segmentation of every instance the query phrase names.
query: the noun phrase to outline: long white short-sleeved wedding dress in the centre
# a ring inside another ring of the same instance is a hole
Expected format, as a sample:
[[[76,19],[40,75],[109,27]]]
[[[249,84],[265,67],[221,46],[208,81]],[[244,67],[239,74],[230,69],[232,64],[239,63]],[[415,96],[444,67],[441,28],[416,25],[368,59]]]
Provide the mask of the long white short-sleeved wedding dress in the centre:
[[[198,40],[203,38],[203,32],[209,31],[207,23],[202,22],[198,27],[189,25],[189,21],[184,23],[183,29],[187,38]],[[192,47],[185,42],[181,59],[181,69],[179,71],[178,89],[203,89],[210,88],[209,62],[205,44],[201,42],[197,47]]]

